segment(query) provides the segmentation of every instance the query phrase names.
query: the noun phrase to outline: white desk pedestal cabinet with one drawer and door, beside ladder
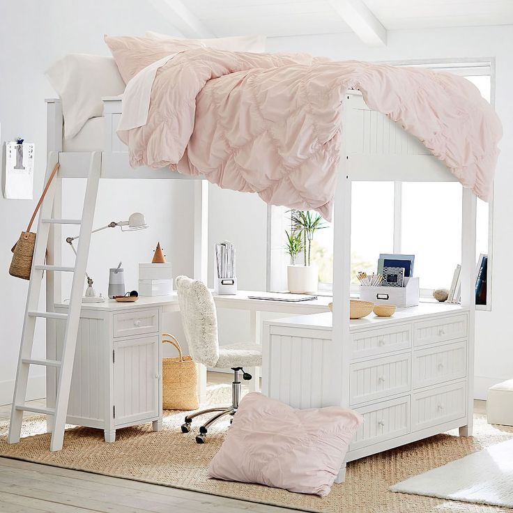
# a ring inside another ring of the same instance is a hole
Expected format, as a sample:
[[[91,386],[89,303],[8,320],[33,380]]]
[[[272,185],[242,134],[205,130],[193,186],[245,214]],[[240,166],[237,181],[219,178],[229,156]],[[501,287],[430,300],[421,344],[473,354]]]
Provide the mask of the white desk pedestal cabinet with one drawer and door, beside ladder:
[[[55,305],[65,313],[67,305]],[[105,431],[153,422],[162,429],[161,333],[165,312],[178,311],[176,296],[139,298],[135,303],[83,304],[66,422]],[[56,322],[47,354],[62,351],[66,321]],[[47,403],[56,395],[56,373],[48,372]],[[51,418],[50,418],[51,419]]]

